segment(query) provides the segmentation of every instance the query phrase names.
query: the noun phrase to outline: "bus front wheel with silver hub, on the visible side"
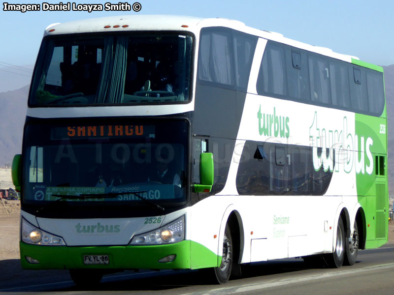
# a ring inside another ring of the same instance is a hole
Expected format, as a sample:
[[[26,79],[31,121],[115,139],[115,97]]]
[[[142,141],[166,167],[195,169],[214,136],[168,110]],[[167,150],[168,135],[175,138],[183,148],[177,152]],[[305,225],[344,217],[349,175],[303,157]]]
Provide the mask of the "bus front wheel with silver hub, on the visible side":
[[[232,239],[229,225],[226,224],[225,236],[223,237],[223,254],[220,266],[214,267],[217,282],[225,284],[230,279],[232,267]]]

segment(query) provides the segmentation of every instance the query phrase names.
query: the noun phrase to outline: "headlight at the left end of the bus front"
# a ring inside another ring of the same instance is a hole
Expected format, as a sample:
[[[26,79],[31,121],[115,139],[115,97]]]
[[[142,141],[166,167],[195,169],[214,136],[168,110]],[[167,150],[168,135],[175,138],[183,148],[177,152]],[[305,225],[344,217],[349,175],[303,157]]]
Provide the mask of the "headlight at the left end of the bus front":
[[[66,243],[60,236],[44,232],[22,218],[22,241],[34,245],[65,246]]]

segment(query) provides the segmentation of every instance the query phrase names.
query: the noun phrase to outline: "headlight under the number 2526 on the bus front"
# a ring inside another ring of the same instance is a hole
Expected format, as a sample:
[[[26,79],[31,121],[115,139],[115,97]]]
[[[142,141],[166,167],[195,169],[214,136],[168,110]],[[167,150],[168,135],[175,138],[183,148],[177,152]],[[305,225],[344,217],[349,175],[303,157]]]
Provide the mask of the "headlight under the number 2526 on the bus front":
[[[154,231],[134,236],[131,245],[158,245],[179,242],[185,239],[185,215]]]

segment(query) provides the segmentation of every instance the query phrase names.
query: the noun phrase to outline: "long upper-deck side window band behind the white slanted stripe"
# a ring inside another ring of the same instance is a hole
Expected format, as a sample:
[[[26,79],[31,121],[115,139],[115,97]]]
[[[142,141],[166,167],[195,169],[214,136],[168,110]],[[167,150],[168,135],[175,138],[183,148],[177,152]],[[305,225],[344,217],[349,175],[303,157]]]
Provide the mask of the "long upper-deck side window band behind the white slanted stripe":
[[[385,105],[383,73],[267,41],[257,93],[372,116]]]

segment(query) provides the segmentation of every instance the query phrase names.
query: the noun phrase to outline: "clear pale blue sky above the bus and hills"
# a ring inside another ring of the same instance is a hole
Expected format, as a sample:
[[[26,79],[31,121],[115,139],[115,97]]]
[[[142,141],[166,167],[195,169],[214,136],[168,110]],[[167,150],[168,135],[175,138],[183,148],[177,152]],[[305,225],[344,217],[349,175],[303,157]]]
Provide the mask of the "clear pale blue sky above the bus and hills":
[[[0,7],[0,62],[32,65],[44,29],[52,23],[122,14],[177,14],[225,17],[285,37],[331,48],[379,64],[394,64],[393,0],[137,0],[139,12],[3,11]],[[42,1],[8,1],[35,3]],[[59,3],[60,1],[47,1]],[[63,1],[64,3],[67,0]],[[106,1],[76,1],[105,3]],[[118,1],[111,1],[118,3]],[[130,4],[133,1],[128,1]],[[1,63],[0,65],[4,65]]]

